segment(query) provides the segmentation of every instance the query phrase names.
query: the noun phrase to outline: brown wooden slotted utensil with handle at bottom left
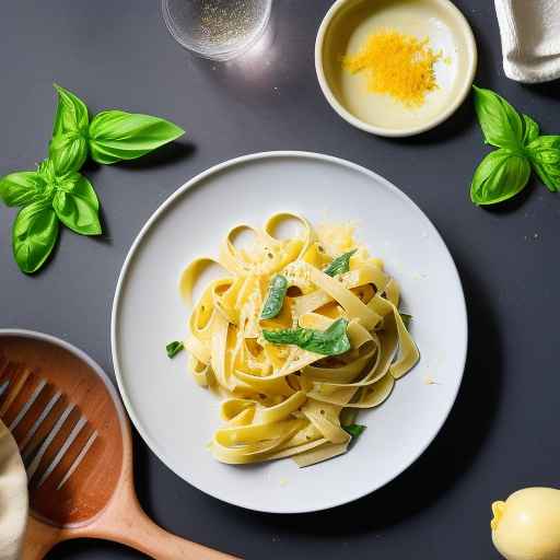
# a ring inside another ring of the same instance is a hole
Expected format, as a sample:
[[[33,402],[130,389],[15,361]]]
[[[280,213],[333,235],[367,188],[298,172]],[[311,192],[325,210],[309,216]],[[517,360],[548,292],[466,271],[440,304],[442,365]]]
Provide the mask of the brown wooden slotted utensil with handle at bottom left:
[[[82,537],[122,542],[161,560],[233,558],[165,532],[142,511],[120,400],[102,369],[77,348],[47,335],[0,330],[0,418],[28,476],[23,560]]]

